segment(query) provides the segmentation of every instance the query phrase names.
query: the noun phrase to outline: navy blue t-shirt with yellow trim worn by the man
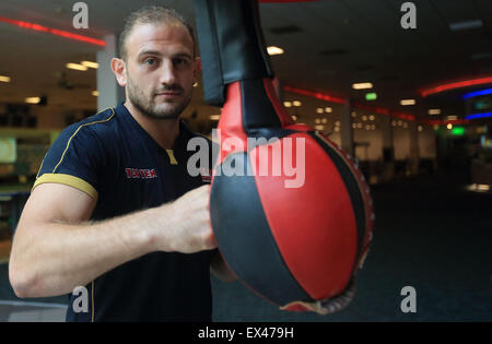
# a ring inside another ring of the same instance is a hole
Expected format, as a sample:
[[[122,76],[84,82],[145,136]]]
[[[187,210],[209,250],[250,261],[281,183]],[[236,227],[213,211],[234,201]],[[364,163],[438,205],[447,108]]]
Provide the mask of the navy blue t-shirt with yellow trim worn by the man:
[[[122,104],[108,108],[60,133],[34,188],[58,182],[86,192],[97,200],[94,221],[176,200],[210,182],[187,170],[196,153],[187,151],[187,143],[200,135],[183,122],[179,128],[173,150],[164,150]],[[153,252],[117,266],[85,286],[89,312],[75,312],[79,295],[69,295],[67,321],[211,321],[213,252]]]

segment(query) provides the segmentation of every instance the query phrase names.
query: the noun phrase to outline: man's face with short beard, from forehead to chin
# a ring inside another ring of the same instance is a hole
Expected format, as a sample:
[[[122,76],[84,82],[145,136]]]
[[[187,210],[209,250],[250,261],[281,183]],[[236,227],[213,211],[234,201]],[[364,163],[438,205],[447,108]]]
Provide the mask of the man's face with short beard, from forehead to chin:
[[[127,41],[127,97],[143,115],[178,118],[191,100],[196,61],[180,24],[141,24]]]

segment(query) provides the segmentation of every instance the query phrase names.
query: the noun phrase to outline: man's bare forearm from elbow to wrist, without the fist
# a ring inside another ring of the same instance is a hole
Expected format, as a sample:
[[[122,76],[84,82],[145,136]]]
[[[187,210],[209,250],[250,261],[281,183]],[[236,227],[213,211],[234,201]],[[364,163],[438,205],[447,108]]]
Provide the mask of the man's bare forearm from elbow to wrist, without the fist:
[[[168,205],[166,205],[168,206]],[[157,214],[159,211],[159,214]],[[20,297],[71,293],[127,261],[155,251],[155,233],[165,232],[163,206],[98,223],[20,223],[23,236],[12,250],[10,277]]]

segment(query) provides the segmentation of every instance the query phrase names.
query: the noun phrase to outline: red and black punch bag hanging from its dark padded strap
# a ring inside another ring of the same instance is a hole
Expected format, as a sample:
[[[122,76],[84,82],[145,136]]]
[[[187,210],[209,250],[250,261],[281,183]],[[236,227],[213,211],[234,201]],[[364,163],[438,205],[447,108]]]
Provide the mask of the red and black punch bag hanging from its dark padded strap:
[[[195,13],[206,100],[223,106],[210,212],[224,261],[281,309],[340,310],[372,237],[368,187],[345,153],[281,105],[258,3],[196,0]]]

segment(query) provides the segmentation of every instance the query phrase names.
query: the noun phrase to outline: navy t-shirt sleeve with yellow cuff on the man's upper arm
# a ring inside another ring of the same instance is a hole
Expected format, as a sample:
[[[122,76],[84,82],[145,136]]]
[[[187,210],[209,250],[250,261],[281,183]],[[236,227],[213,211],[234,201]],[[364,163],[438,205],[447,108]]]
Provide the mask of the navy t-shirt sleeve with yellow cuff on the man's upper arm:
[[[63,130],[43,159],[33,190],[45,182],[77,188],[97,200],[104,152],[95,132],[86,126]]]

